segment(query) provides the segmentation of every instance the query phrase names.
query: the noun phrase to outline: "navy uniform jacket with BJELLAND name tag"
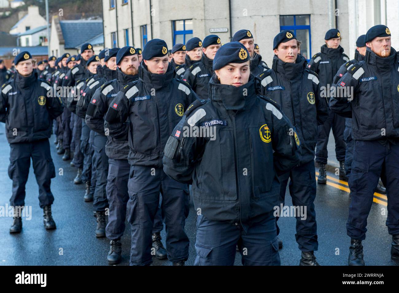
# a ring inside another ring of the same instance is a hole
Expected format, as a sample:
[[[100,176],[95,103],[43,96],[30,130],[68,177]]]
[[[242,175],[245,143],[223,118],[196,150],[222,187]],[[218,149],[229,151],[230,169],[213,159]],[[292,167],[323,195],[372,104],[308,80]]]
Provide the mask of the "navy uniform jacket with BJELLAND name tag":
[[[354,64],[337,82],[330,109],[353,118],[354,140],[384,140],[399,137],[399,57],[391,48],[389,57],[378,57],[367,48],[365,59]],[[385,135],[382,135],[385,132]]]

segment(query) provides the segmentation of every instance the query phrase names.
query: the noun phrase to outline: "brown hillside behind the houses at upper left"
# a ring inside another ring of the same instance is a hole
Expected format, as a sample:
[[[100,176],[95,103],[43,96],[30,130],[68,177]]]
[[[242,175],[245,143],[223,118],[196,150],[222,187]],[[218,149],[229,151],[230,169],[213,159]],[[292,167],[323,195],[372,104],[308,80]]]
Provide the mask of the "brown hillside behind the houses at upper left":
[[[44,0],[24,0],[25,5],[17,8],[1,8],[0,11],[11,11],[9,16],[0,16],[0,31],[10,31],[18,22],[18,12],[28,11],[28,6],[39,7],[40,15],[45,18]],[[63,10],[61,19],[74,20],[102,15],[101,0],[49,0],[49,21],[51,16],[59,15],[59,9]]]

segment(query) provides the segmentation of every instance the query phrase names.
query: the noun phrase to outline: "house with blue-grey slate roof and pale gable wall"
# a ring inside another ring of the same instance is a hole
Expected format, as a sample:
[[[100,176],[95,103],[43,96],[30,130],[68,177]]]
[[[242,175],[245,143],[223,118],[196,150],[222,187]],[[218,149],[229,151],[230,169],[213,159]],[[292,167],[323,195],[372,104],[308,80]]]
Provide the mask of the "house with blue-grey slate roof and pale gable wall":
[[[80,46],[91,43],[95,54],[104,48],[103,20],[59,20],[53,16],[50,33],[50,54],[80,53]]]

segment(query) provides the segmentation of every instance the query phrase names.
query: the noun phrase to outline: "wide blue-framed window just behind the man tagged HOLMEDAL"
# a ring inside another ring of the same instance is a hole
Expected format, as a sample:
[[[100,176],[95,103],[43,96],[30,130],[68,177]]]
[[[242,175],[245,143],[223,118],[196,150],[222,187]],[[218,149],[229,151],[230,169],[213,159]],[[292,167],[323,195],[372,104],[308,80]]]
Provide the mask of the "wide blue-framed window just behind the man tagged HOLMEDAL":
[[[310,15],[280,15],[280,31],[289,29],[301,41],[300,53],[308,61],[312,57]]]

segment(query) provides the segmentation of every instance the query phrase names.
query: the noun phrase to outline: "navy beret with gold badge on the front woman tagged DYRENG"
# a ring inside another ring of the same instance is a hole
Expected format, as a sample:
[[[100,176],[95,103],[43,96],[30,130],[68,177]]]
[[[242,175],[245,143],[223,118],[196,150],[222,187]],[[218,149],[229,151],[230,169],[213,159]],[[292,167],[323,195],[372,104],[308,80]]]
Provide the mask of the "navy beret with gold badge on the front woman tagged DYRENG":
[[[230,42],[217,50],[213,59],[213,70],[221,69],[229,63],[244,63],[249,60],[247,48],[240,42]]]

